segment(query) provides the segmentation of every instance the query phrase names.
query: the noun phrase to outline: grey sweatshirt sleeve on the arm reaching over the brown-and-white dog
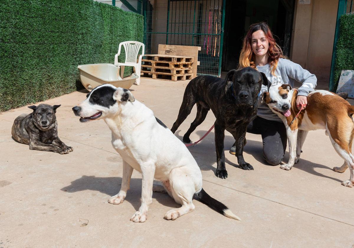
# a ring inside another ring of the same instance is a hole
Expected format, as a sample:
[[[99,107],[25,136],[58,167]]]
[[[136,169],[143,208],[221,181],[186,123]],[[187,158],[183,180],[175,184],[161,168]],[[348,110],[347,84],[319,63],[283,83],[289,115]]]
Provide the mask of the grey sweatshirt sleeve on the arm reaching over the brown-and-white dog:
[[[290,78],[302,83],[298,89],[298,96],[307,96],[313,91],[317,85],[317,78],[315,74],[310,73],[306,69],[302,68],[299,64],[287,60],[287,74]]]

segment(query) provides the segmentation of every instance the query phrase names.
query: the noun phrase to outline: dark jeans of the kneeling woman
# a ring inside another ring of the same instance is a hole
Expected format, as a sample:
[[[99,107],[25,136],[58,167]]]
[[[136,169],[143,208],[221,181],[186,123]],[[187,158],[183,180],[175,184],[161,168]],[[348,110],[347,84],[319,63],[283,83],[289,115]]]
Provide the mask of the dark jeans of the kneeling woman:
[[[284,158],[287,136],[282,122],[256,117],[248,126],[247,132],[261,134],[263,140],[263,157],[270,165],[278,165]]]

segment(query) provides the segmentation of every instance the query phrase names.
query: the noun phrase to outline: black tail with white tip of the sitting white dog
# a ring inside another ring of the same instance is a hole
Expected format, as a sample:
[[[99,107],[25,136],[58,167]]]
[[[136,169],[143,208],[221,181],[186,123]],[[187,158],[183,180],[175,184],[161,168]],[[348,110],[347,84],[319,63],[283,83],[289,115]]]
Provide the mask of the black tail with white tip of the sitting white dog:
[[[203,190],[203,188],[201,189],[201,191],[194,194],[193,199],[196,199],[197,201],[204,203],[209,208],[214,209],[216,212],[221,213],[228,218],[241,221],[241,219],[238,216],[236,216],[234,213],[232,213],[231,210],[228,209],[228,207],[226,207],[223,203],[209,196],[208,193],[206,193]]]

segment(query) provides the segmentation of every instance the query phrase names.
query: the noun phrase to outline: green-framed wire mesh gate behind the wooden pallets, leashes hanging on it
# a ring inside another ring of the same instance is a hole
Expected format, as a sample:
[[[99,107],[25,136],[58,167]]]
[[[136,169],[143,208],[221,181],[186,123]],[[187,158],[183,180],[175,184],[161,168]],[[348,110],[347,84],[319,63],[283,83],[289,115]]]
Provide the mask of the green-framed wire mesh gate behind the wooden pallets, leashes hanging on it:
[[[146,1],[143,15],[145,53],[159,44],[200,46],[197,74],[221,75],[225,0]]]

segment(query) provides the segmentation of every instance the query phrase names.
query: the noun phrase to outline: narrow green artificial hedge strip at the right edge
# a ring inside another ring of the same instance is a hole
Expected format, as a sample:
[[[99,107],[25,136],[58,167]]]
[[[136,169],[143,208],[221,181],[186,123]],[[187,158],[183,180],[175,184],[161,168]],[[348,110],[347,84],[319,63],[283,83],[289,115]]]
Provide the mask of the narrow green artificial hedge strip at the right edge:
[[[337,41],[334,89],[337,89],[342,69],[354,70],[354,15],[341,16],[339,38]]]

